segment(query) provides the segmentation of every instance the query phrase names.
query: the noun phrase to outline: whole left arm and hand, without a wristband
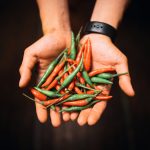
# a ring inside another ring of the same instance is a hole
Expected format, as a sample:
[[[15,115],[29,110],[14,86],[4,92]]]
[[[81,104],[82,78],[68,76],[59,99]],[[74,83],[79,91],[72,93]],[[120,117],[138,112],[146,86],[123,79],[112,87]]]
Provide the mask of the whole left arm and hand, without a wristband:
[[[20,87],[25,87],[29,83],[35,64],[38,64],[38,78],[40,78],[50,61],[63,49],[70,47],[71,32],[67,0],[37,0],[37,3],[44,35],[25,49],[20,66]],[[36,112],[40,122],[47,120],[47,111],[37,103]],[[59,126],[59,113],[51,110],[50,116],[53,126]],[[64,116],[69,117],[68,114]]]

